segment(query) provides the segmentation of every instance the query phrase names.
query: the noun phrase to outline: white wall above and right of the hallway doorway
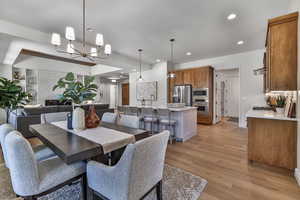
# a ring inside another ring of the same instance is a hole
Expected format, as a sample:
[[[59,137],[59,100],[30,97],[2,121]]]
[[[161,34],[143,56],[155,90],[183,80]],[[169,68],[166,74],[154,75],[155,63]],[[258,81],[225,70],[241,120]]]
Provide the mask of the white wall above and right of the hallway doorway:
[[[175,69],[188,69],[212,66],[215,70],[239,68],[240,72],[240,111],[239,126],[246,127],[246,113],[253,105],[265,105],[263,77],[254,76],[253,69],[263,66],[264,50],[250,51],[217,58],[197,60],[177,64]]]

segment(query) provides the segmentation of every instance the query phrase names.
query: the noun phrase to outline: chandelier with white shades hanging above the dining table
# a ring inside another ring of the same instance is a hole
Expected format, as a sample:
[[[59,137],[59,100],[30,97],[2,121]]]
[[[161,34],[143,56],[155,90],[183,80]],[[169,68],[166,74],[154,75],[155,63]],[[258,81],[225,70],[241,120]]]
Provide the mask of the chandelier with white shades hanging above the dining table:
[[[69,54],[72,58],[86,58],[92,62],[96,59],[105,59],[111,54],[111,45],[104,45],[103,35],[100,33],[96,34],[95,46],[91,47],[90,50],[87,49],[86,43],[86,6],[83,0],[83,15],[82,15],[82,47],[77,48],[74,46],[73,41],[75,40],[74,28],[67,26],[65,32],[65,38],[68,40],[66,50],[59,49],[61,46],[61,37],[58,33],[52,33],[51,44],[55,46],[55,49],[59,53]]]

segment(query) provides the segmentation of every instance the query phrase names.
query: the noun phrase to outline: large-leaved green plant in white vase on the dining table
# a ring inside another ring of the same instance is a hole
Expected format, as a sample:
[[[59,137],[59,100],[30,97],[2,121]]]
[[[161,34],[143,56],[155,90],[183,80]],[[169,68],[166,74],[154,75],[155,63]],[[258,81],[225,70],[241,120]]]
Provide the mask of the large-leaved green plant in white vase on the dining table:
[[[84,110],[80,105],[85,101],[93,101],[97,95],[98,86],[93,84],[95,77],[85,77],[84,82],[76,80],[74,73],[70,72],[65,77],[60,78],[53,87],[63,89],[60,101],[71,101],[73,106],[72,127],[76,130],[85,128]],[[75,105],[79,105],[74,109]],[[70,126],[69,126],[70,127]]]

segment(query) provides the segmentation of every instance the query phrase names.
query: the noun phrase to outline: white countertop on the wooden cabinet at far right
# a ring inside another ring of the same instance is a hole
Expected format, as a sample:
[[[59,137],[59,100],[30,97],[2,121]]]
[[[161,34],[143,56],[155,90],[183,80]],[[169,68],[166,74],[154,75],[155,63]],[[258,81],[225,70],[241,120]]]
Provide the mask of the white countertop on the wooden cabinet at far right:
[[[249,110],[246,117],[262,118],[262,119],[275,119],[275,120],[286,120],[286,121],[298,121],[297,118],[285,117],[283,113],[267,110]]]

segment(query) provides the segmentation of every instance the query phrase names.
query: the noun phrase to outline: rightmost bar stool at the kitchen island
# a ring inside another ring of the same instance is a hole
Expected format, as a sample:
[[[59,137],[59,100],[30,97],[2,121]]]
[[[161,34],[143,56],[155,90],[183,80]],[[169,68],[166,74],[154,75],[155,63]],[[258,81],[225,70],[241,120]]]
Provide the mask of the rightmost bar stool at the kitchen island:
[[[176,131],[176,120],[171,119],[172,111],[165,108],[157,109],[157,114],[159,118],[159,132],[164,130],[170,131],[169,141],[172,144],[175,139],[175,131]],[[172,131],[173,130],[173,131]]]

